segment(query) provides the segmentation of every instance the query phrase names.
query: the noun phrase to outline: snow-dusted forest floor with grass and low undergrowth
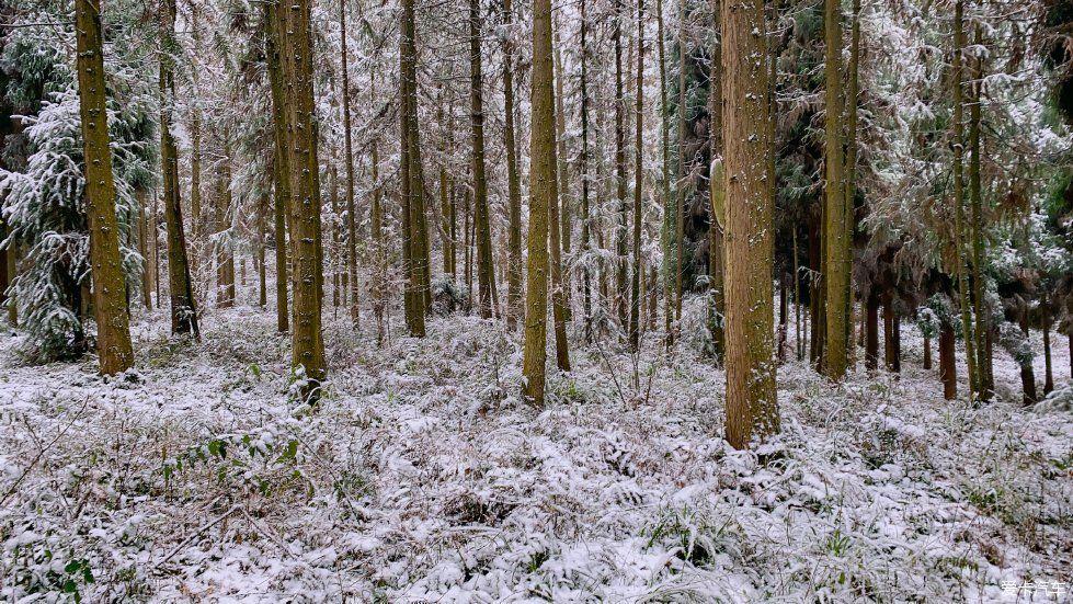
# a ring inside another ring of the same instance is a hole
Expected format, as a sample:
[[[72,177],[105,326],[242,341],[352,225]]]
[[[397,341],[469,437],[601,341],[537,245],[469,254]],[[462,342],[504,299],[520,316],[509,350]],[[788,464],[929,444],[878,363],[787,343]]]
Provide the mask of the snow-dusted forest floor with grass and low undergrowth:
[[[22,365],[5,329],[0,597],[1069,599],[1003,590],[1073,581],[1073,414],[1024,408],[1001,353],[1005,400],[981,408],[943,400],[910,324],[899,379],[835,387],[790,361],[781,436],[735,452],[722,372],[688,345],[665,356],[659,334],[636,360],[573,350],[538,410],[499,323],[441,318],[377,347],[368,322],[326,315],[316,409],[288,396],[271,308],[208,310],[199,344],[141,314],[119,379],[93,358]]]

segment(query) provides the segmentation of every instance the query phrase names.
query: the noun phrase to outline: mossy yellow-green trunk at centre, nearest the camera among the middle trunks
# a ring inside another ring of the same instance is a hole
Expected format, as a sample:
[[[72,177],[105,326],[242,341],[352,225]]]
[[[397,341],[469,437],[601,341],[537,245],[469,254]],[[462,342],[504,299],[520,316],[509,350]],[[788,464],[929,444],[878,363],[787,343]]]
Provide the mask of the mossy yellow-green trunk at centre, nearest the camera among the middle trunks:
[[[525,287],[523,396],[544,404],[548,321],[548,212],[555,203],[555,84],[551,58],[551,0],[533,0],[533,101],[529,149],[529,236]]]

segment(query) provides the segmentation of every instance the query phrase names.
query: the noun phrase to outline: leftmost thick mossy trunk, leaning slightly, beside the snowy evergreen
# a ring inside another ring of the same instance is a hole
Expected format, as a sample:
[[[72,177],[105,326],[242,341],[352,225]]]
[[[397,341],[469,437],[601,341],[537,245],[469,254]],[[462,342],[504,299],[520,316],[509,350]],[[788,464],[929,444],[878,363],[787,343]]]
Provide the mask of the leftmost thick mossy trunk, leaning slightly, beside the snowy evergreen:
[[[119,225],[115,216],[115,179],[105,109],[104,35],[100,0],[77,0],[79,116],[85,157],[85,217],[90,228],[90,271],[101,373],[134,366],[127,315]]]

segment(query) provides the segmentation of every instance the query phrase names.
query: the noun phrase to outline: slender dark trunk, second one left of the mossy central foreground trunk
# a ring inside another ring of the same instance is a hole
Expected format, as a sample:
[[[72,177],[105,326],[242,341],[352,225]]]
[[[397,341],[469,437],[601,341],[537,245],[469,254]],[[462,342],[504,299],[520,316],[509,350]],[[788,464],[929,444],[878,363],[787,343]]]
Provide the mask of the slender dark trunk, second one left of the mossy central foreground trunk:
[[[488,180],[484,176],[484,105],[481,98],[480,0],[469,0],[469,83],[472,109],[473,202],[477,218],[477,287],[481,318],[495,314],[495,269],[492,265],[492,230],[488,213]]]

